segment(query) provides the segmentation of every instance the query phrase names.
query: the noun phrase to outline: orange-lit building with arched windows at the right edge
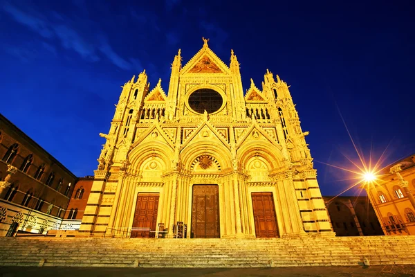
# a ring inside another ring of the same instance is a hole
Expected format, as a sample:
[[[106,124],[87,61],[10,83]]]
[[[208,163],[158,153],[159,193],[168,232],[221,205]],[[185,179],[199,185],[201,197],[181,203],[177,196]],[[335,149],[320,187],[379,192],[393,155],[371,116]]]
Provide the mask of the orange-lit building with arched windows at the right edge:
[[[385,235],[415,235],[415,154],[391,163],[364,184]]]

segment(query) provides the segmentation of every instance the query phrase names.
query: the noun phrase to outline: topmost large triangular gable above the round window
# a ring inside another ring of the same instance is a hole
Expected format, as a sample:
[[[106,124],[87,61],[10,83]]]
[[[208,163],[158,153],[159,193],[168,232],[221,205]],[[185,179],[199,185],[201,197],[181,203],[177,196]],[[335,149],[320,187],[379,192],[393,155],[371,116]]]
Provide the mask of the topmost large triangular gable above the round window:
[[[181,75],[186,73],[222,73],[230,74],[229,67],[213,53],[208,46],[203,46],[196,55],[181,69]]]

